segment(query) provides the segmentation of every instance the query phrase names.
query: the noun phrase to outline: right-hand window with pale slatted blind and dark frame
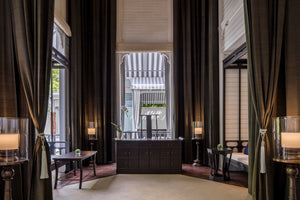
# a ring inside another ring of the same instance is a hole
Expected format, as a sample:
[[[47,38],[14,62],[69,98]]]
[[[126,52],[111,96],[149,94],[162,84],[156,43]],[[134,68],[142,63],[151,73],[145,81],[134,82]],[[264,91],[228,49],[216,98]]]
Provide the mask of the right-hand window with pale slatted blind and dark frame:
[[[248,80],[246,66],[224,70],[225,146],[241,152],[248,144]]]

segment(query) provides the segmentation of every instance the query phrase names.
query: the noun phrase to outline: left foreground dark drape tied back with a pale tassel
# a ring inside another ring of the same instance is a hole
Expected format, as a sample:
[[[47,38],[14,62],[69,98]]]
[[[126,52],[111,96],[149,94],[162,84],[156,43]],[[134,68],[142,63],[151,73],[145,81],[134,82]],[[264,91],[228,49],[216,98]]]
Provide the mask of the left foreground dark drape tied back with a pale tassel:
[[[54,1],[13,0],[11,3],[18,71],[38,133],[32,160],[30,199],[52,199],[50,151],[43,132],[49,97]]]

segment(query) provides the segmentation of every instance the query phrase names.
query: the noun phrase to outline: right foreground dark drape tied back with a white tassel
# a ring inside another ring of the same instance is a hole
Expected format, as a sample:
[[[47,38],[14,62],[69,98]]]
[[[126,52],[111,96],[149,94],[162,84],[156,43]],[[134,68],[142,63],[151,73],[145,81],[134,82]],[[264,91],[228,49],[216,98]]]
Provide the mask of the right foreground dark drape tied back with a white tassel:
[[[270,124],[284,55],[286,0],[245,0],[244,3],[250,90],[249,193],[253,199],[274,199]],[[261,129],[267,129],[265,139]],[[265,143],[265,153],[261,154],[262,143]]]

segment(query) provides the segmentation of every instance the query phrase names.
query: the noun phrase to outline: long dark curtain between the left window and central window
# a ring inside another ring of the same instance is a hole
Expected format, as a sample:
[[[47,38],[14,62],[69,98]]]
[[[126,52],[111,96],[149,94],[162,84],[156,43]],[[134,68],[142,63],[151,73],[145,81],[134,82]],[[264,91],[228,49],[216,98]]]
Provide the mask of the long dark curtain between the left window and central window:
[[[96,123],[97,162],[113,160],[116,105],[116,1],[72,0],[71,132],[72,148],[90,149],[88,122]]]

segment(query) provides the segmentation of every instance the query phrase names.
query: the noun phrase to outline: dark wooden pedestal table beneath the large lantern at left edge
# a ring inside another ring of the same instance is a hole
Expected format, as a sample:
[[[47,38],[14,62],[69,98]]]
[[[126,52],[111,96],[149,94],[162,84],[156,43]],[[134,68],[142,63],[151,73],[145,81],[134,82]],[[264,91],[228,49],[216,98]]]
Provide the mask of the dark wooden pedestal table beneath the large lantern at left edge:
[[[27,159],[20,159],[11,162],[0,162],[0,166],[3,167],[1,170],[1,177],[4,180],[4,200],[12,200],[12,187],[11,181],[14,178],[15,170],[12,168],[16,165],[21,165],[27,162]]]

